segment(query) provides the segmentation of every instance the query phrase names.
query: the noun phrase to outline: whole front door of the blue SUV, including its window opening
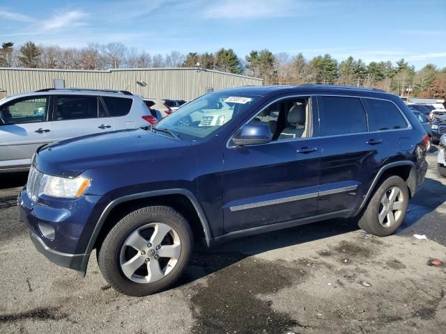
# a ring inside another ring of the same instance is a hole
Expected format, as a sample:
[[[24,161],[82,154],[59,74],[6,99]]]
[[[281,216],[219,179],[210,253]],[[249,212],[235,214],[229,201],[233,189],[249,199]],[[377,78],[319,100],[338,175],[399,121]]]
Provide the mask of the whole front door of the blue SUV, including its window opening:
[[[302,105],[306,107],[302,109]],[[321,138],[308,138],[318,133],[314,131],[318,130],[316,111],[309,97],[284,97],[251,120],[268,124],[272,138],[277,140],[224,148],[222,207],[226,232],[316,214]],[[296,113],[306,116],[297,117]],[[285,133],[287,139],[279,139]]]

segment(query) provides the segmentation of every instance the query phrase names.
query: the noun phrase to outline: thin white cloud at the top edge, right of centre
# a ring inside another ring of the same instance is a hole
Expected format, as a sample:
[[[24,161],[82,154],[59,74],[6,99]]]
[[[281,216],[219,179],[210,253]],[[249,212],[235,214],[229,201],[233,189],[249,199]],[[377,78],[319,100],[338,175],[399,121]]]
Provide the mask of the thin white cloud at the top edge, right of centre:
[[[303,10],[325,6],[325,4],[323,2],[306,3],[302,0],[223,0],[206,6],[203,16],[208,19],[291,17],[302,15]]]

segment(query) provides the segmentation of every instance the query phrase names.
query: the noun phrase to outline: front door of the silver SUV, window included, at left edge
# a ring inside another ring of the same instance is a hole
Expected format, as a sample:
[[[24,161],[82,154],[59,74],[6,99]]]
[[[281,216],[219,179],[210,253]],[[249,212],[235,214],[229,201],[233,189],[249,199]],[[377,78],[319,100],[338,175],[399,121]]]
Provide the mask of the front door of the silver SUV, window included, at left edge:
[[[52,142],[49,106],[49,97],[34,96],[0,107],[0,169],[29,167],[33,153]]]

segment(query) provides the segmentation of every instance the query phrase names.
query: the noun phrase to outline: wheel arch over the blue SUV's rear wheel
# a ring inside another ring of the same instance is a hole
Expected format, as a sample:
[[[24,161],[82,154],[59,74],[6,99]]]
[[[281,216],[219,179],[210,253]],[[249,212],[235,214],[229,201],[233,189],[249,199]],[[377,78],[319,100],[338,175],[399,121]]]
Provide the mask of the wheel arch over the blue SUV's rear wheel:
[[[369,191],[367,191],[367,194],[362,200],[362,203],[359,209],[357,210],[356,214],[361,212],[362,209],[364,209],[365,205],[373,195],[376,186],[378,186],[379,182],[381,180],[385,180],[387,177],[392,175],[399,176],[406,182],[409,189],[410,197],[415,195],[415,192],[417,191],[417,171],[413,161],[406,160],[406,161],[391,162],[390,164],[381,167],[381,169],[378,171],[373,182],[371,183]]]

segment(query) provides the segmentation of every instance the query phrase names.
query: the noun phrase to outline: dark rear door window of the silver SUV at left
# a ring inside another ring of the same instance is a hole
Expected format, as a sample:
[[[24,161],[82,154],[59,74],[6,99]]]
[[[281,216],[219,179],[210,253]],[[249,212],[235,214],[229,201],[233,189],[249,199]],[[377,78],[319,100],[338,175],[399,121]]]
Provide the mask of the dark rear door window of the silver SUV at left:
[[[54,120],[82,120],[98,118],[98,97],[95,96],[58,96]]]

